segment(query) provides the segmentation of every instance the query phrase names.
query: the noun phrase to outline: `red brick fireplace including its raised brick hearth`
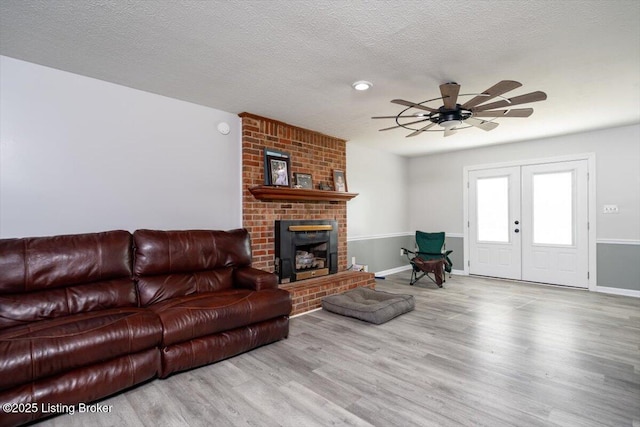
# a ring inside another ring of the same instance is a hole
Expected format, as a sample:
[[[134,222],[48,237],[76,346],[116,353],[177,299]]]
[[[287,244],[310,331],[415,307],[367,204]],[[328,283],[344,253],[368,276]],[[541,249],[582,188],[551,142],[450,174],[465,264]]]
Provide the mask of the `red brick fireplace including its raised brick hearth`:
[[[265,148],[289,153],[292,177],[296,172],[311,174],[314,188],[321,182],[331,184],[334,169],[346,171],[346,141],[250,113],[239,116],[242,119],[242,223],[251,235],[253,265],[275,272],[276,221],[334,220],[338,225],[337,274],[281,285],[292,292],[292,314],[319,307],[324,295],[356,286],[374,287],[372,274],[345,273],[346,201],[258,200],[249,191],[264,184]]]

